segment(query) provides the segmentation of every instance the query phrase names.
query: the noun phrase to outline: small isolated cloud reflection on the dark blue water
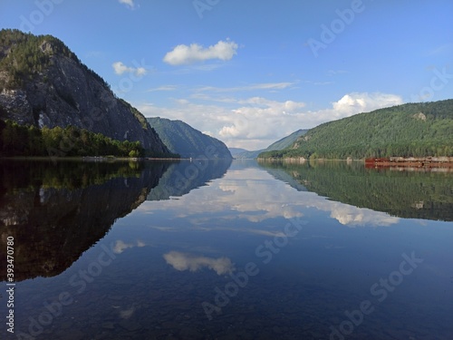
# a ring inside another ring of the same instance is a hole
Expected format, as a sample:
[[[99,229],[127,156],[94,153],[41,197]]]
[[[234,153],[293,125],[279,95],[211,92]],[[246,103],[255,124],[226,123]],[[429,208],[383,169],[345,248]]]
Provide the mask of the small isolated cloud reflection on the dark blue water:
[[[235,267],[228,257],[197,257],[192,254],[170,251],[163,256],[167,263],[176,270],[196,272],[203,267],[214,270],[217,275],[230,274]]]

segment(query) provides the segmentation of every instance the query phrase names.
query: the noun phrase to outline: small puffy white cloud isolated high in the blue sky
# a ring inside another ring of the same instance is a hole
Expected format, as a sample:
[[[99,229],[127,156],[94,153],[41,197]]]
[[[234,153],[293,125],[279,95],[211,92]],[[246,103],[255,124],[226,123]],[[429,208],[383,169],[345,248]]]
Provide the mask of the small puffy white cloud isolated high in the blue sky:
[[[230,60],[236,54],[238,45],[235,42],[219,41],[207,48],[200,44],[179,44],[165,54],[163,61],[170,65],[182,65],[204,62],[211,59]]]

